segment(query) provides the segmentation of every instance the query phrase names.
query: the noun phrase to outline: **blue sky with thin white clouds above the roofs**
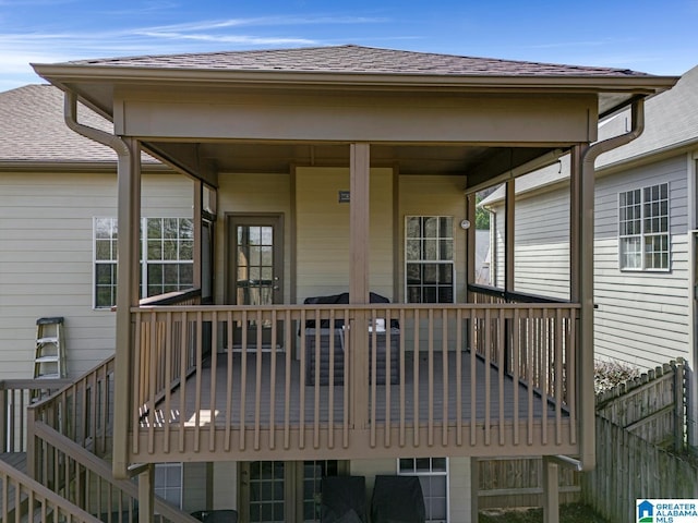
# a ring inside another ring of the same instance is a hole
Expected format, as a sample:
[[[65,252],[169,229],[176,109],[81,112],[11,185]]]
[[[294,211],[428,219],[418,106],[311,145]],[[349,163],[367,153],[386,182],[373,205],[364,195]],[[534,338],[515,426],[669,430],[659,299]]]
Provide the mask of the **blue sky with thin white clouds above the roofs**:
[[[29,63],[356,44],[681,75],[698,0],[0,0],[0,90]]]

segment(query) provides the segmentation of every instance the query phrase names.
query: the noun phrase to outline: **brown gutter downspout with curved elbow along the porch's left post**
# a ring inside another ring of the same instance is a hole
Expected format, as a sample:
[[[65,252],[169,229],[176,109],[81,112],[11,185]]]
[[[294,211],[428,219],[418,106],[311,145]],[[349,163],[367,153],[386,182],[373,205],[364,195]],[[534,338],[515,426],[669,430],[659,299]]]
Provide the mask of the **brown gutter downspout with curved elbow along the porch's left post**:
[[[117,153],[117,191],[119,224],[128,229],[133,218],[133,183],[132,161],[134,155],[129,144],[119,136],[105,131],[89,127],[77,122],[77,97],[74,93],[65,93],[63,100],[63,119],[65,124],[77,134],[110,147]],[[140,159],[140,156],[139,156]],[[140,212],[140,211],[139,211]],[[120,227],[121,229],[121,227]],[[127,231],[119,234],[118,248],[121,259],[129,262],[132,258],[133,248],[131,240],[133,234]],[[130,408],[130,368],[131,368],[131,299],[133,291],[129,282],[131,264],[117,264],[117,278],[119,291],[117,293],[117,328],[116,328],[116,361],[115,361],[115,423],[113,423],[113,450],[112,467],[117,478],[128,478],[128,427]],[[123,284],[125,283],[125,284]]]

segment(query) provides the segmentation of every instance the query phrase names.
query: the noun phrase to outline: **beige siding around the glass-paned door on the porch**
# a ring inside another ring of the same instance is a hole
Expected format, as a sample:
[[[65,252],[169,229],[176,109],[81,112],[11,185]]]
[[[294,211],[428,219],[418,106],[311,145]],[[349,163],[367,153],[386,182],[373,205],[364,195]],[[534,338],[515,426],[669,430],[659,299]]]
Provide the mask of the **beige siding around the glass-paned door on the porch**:
[[[227,267],[227,243],[225,216],[227,214],[281,214],[284,215],[284,302],[289,303],[291,279],[291,175],[270,173],[218,174],[218,222],[216,226],[215,264],[217,276]],[[231,303],[226,296],[225,278],[216,278],[216,303]],[[226,302],[228,300],[228,302]]]

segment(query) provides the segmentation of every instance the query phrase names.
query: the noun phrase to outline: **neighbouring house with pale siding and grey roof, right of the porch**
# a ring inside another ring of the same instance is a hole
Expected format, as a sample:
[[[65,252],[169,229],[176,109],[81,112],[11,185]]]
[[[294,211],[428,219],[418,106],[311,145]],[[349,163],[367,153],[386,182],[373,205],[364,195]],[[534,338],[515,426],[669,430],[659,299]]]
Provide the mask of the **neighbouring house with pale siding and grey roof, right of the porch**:
[[[627,129],[622,112],[599,138]],[[698,68],[646,102],[645,131],[597,160],[594,353],[641,369],[696,368]],[[568,299],[569,157],[516,181],[517,291]],[[503,250],[504,188],[483,206]],[[502,255],[491,284],[503,281]],[[542,276],[543,275],[543,276]]]

